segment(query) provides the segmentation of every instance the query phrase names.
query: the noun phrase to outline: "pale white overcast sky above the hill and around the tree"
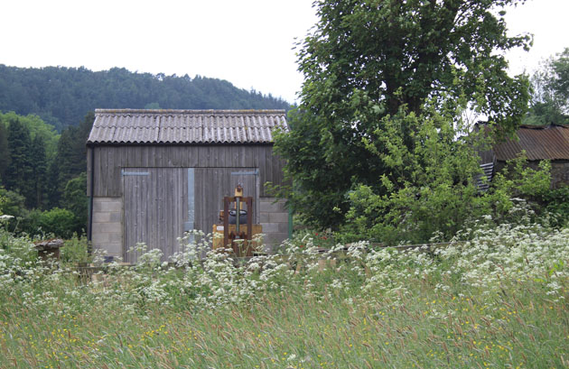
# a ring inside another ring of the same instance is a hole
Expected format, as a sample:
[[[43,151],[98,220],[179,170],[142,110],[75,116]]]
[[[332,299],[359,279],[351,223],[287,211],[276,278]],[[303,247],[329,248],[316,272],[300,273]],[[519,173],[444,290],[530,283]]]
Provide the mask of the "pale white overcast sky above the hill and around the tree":
[[[303,76],[292,50],[317,19],[312,0],[0,0],[0,64],[124,67],[227,79],[296,100]],[[569,0],[528,0],[508,12],[532,51],[508,54],[513,73],[569,47]]]

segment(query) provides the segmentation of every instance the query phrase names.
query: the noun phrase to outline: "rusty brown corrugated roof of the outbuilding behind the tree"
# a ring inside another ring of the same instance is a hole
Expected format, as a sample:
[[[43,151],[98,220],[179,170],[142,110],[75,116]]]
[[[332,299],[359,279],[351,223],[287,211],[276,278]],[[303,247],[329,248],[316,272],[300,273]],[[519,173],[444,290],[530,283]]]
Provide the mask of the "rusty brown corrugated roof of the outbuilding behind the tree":
[[[507,139],[494,145],[496,160],[515,159],[522,150],[530,161],[569,160],[569,126],[522,125],[517,134],[518,141]]]

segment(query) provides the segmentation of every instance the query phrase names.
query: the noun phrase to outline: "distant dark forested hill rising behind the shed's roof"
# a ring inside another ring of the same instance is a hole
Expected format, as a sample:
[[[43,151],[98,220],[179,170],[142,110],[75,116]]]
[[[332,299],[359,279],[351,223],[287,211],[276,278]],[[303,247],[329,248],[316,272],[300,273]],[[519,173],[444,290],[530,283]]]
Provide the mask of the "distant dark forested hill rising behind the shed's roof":
[[[0,64],[0,111],[39,115],[61,132],[98,107],[288,110],[290,104],[217,78]]]

